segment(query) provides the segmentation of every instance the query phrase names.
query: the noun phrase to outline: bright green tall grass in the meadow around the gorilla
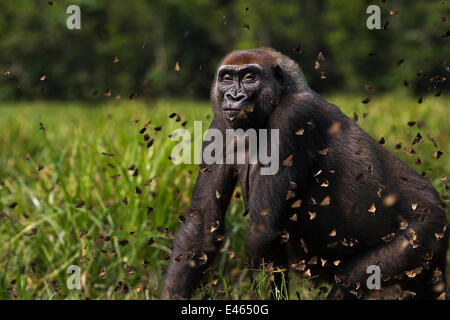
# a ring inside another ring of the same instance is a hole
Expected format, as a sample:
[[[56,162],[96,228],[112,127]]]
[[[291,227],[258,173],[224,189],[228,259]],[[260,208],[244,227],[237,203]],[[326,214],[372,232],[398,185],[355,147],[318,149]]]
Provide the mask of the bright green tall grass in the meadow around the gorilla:
[[[349,116],[357,112],[362,128],[377,140],[384,137],[390,151],[398,142],[410,146],[420,131],[424,139],[414,145],[416,156],[403,149],[395,154],[417,171],[425,171],[444,195],[445,182],[440,178],[450,171],[449,98],[430,96],[418,104],[396,94],[374,98],[367,105],[357,96],[329,100]],[[188,129],[193,120],[203,120],[206,129],[210,122],[206,115],[212,113],[207,102],[111,101],[99,106],[0,105],[0,299],[158,297],[178,216],[189,206],[198,170],[168,159],[176,144],[168,135],[181,127],[168,116],[179,113],[182,121],[188,121]],[[134,124],[134,120],[140,121]],[[147,132],[155,141],[147,149],[139,131],[150,120]],[[420,129],[407,125],[420,120],[426,121]],[[40,122],[45,131],[39,129]],[[163,125],[159,132],[154,130],[158,125]],[[444,151],[440,159],[433,157],[436,148],[427,135]],[[417,157],[423,165],[414,163]],[[139,169],[137,176],[128,170],[132,165]],[[43,166],[40,171],[39,166]],[[112,178],[117,174],[120,177]],[[196,298],[269,297],[271,275],[280,271],[263,268],[252,273],[244,264],[248,217],[241,215],[241,201],[232,200],[223,253]],[[14,203],[17,206],[10,208]],[[153,208],[150,214],[148,207]],[[81,290],[66,286],[70,265],[81,268]],[[297,277],[289,293],[280,288],[276,295],[295,299],[296,291],[305,299],[325,297]]]

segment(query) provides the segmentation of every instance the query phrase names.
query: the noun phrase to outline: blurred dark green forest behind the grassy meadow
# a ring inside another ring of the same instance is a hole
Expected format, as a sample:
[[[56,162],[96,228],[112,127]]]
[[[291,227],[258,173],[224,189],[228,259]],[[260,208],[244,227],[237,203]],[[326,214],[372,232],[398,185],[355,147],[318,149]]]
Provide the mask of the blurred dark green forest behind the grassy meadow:
[[[81,30],[66,27],[71,4]],[[366,28],[370,4],[382,30]],[[227,52],[260,46],[294,58],[319,93],[435,93],[448,90],[448,16],[440,0],[1,1],[0,100],[204,99]]]

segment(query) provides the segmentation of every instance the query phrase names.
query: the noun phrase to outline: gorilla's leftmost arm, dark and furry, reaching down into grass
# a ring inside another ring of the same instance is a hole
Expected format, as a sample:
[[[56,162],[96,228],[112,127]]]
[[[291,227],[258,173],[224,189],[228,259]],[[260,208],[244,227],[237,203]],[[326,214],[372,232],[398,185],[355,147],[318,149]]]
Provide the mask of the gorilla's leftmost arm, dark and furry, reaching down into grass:
[[[220,246],[218,237],[225,231],[225,211],[235,182],[231,165],[214,164],[200,171],[188,216],[174,243],[162,298],[189,299],[202,272],[213,261]]]

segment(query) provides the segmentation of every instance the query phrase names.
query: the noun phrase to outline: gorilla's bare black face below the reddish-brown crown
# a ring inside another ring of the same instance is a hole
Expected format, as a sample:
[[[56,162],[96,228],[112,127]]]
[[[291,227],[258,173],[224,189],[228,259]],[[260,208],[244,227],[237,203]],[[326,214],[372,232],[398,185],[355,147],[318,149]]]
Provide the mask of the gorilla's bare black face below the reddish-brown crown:
[[[218,104],[234,128],[257,128],[268,118],[279,85],[273,67],[223,65],[217,72]]]

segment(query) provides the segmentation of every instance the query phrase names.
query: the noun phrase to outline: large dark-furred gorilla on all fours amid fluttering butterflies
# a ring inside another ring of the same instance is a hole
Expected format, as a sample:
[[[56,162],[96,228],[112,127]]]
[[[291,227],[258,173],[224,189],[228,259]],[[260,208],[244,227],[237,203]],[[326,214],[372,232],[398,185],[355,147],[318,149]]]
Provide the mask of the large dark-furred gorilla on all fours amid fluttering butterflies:
[[[329,281],[328,299],[364,297],[373,268],[382,286],[398,283],[410,298],[445,299],[449,235],[438,193],[312,91],[294,61],[270,48],[228,54],[214,76],[211,104],[210,129],[278,129],[279,170],[200,165],[162,298],[189,299],[210,268],[239,180],[251,266],[273,263]]]

